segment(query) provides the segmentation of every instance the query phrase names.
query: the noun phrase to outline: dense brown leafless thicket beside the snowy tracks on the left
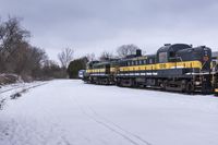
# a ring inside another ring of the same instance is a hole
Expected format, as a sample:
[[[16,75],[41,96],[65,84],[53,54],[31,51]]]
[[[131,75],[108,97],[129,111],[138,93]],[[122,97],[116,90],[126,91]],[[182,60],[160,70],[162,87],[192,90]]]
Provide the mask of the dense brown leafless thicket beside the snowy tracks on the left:
[[[24,81],[65,77],[64,69],[29,39],[31,32],[22,27],[21,19],[0,20],[0,73],[17,74]]]

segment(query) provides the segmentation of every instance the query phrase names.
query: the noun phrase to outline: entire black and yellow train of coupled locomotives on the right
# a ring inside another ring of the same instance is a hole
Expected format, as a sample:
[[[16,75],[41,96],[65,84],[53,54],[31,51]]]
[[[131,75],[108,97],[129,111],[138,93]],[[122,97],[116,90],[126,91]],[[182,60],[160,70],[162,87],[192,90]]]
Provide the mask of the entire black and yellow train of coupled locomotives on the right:
[[[135,55],[86,64],[83,81],[92,84],[218,94],[218,57],[206,46],[166,44],[155,55]]]

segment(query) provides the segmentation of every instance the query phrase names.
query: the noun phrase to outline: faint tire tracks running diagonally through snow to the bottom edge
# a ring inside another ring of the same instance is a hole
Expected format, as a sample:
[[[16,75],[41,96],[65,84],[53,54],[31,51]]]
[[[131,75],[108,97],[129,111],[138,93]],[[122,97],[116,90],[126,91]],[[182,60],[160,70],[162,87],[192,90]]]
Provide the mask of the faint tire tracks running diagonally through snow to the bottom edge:
[[[112,131],[113,133],[120,135],[125,141],[133,145],[152,145],[147,141],[143,140],[138,135],[131,133],[130,131],[126,131],[119,126],[118,124],[113,123],[112,121],[109,121],[108,119],[104,118],[99,113],[97,113],[94,109],[92,109],[89,106],[84,107],[74,97],[75,105],[81,109],[81,111],[87,116],[89,119],[94,120],[96,123],[107,128],[108,130]]]

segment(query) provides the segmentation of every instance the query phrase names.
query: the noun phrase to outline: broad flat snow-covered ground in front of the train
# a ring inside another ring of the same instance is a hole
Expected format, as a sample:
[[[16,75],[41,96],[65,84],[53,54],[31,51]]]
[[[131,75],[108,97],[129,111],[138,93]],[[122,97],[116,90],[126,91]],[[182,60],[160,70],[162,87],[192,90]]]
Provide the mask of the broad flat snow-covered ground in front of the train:
[[[51,81],[7,101],[0,145],[218,145],[218,98]]]

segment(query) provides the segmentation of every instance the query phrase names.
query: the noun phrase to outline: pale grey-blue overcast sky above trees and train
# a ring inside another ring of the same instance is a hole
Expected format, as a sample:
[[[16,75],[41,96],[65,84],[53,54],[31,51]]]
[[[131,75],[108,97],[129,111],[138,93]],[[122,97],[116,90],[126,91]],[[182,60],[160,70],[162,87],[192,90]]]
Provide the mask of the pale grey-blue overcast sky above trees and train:
[[[174,43],[218,50],[217,0],[0,0],[0,16],[9,14],[51,59],[65,47],[78,57],[123,44],[147,53]]]

